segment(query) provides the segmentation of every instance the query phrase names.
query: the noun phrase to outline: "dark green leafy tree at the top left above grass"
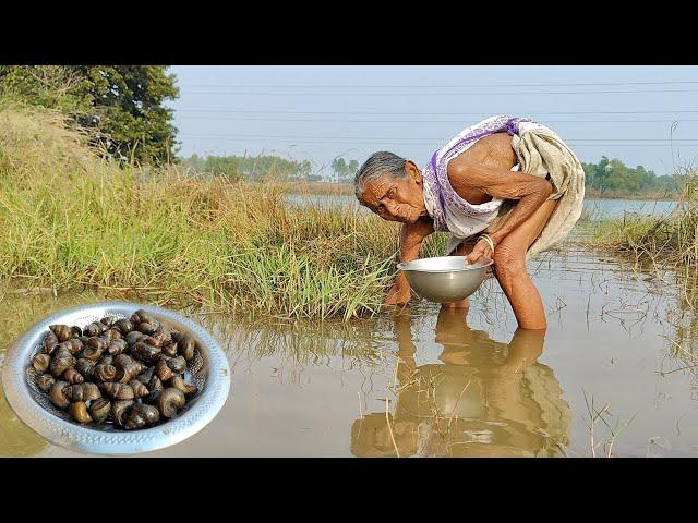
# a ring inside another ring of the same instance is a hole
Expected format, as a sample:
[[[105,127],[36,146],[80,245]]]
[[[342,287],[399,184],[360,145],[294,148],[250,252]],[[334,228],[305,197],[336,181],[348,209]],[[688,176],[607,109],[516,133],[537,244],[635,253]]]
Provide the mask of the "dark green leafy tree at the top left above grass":
[[[58,109],[115,158],[174,158],[177,129],[164,104],[179,96],[161,65],[1,65],[0,96]]]

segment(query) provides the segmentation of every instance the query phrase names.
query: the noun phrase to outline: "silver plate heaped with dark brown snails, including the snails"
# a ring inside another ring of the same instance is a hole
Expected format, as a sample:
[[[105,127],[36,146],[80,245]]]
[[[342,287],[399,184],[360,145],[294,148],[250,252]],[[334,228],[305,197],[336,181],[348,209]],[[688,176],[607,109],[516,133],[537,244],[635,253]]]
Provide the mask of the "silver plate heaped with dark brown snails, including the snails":
[[[49,441],[130,454],[169,447],[218,414],[230,367],[216,340],[171,311],[101,302],[52,314],[8,351],[8,402]]]

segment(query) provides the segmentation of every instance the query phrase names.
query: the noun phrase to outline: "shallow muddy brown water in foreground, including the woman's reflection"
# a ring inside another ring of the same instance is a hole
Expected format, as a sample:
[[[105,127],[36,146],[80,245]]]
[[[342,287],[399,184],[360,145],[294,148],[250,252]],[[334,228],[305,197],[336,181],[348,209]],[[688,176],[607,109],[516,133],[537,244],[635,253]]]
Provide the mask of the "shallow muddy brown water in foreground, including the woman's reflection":
[[[225,346],[231,393],[201,433],[143,455],[698,451],[694,316],[672,275],[634,275],[575,247],[530,269],[547,308],[544,337],[516,330],[493,280],[467,315],[426,302],[324,325],[185,312]],[[97,299],[5,294],[0,360],[33,321]],[[36,435],[0,396],[0,455],[76,453]]]

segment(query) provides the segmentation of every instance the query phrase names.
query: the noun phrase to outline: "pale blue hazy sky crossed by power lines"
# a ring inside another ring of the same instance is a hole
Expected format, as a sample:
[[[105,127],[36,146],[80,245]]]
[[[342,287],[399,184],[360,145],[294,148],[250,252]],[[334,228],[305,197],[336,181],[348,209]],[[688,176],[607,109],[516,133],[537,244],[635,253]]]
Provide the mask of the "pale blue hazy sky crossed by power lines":
[[[698,66],[172,66],[182,156],[274,154],[423,166],[495,114],[553,129],[581,161],[672,172],[698,156]],[[674,123],[676,122],[676,123]],[[672,131],[672,125],[674,126]],[[672,142],[673,141],[673,142]],[[673,156],[672,156],[673,155]]]

